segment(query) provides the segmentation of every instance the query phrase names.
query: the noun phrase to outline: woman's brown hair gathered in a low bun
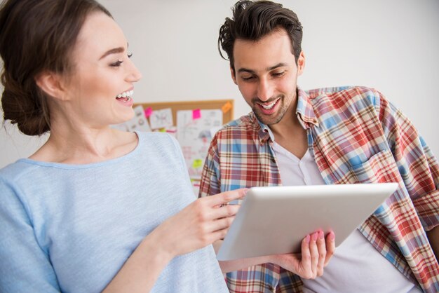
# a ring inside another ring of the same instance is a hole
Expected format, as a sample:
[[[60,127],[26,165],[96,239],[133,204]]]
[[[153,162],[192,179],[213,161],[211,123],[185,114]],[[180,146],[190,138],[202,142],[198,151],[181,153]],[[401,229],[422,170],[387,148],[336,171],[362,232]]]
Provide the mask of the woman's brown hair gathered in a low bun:
[[[25,135],[50,131],[47,95],[35,82],[43,71],[69,72],[72,49],[87,15],[101,11],[94,0],[8,0],[0,10],[0,55],[4,66],[4,121]]]

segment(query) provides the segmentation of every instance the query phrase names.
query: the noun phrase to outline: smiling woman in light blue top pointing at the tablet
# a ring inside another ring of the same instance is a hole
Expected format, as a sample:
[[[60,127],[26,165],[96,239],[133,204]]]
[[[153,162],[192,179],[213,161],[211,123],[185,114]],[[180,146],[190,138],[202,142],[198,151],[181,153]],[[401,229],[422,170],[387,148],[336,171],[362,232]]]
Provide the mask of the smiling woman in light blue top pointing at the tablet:
[[[0,291],[227,292],[210,244],[245,190],[195,200],[175,139],[109,128],[132,118],[141,77],[110,13],[93,0],[6,1],[0,55],[4,119],[50,131],[0,170]],[[326,248],[306,239],[308,258],[290,260],[309,274]]]

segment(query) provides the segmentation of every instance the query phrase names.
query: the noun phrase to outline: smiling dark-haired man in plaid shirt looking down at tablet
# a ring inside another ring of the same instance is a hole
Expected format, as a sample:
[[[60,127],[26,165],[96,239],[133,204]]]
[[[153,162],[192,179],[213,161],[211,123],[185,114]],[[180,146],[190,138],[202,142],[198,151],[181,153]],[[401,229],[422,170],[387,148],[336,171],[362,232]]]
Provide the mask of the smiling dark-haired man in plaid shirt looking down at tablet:
[[[238,1],[233,13],[218,42],[252,112],[212,139],[200,196],[281,184],[399,188],[335,250],[322,276],[302,281],[282,265],[229,261],[221,266],[230,291],[439,292],[439,165],[417,130],[377,90],[298,88],[305,56],[292,11]]]

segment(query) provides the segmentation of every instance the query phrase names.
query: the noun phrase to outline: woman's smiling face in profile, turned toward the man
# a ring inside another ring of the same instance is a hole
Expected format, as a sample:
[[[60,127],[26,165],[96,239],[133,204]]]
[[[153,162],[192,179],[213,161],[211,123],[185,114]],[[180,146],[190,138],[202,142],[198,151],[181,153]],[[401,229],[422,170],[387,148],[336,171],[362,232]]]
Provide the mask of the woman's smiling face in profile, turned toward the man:
[[[133,83],[140,71],[129,59],[121,28],[108,15],[91,13],[72,52],[63,113],[75,127],[102,128],[133,118]]]

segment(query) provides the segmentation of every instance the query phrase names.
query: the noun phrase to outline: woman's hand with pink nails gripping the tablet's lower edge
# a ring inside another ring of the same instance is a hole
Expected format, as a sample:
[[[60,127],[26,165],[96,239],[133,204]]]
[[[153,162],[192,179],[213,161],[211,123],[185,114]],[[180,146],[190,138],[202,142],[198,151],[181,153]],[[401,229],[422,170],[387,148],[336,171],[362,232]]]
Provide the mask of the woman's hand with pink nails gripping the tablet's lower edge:
[[[314,279],[323,275],[323,268],[327,266],[334,251],[334,233],[328,233],[325,241],[323,231],[316,231],[302,240],[301,254],[276,254],[269,259],[273,264],[278,264],[302,278]]]

